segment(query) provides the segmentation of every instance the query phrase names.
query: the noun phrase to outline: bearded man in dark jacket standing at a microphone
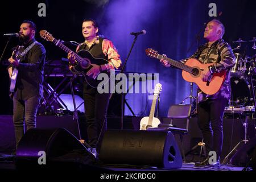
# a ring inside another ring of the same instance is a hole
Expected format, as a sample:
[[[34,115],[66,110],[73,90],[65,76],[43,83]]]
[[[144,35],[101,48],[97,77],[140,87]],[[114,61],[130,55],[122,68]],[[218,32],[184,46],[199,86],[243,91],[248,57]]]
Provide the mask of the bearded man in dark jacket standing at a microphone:
[[[46,49],[35,40],[36,25],[30,20],[24,20],[19,28],[19,40],[24,49],[32,46],[20,61],[10,57],[8,71],[18,69],[15,92],[13,96],[13,122],[15,129],[16,148],[24,135],[24,119],[27,130],[36,127],[36,113],[43,95],[43,73]],[[22,50],[21,50],[22,51]]]

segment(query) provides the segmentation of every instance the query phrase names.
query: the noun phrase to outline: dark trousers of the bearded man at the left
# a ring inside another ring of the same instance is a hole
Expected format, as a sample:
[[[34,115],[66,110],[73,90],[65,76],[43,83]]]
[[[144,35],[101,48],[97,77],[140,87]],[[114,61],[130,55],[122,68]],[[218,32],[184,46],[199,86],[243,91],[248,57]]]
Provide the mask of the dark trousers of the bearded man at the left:
[[[40,96],[30,97],[27,100],[13,98],[13,123],[16,139],[16,149],[20,139],[25,133],[24,121],[27,130],[36,127],[36,113],[40,104]]]

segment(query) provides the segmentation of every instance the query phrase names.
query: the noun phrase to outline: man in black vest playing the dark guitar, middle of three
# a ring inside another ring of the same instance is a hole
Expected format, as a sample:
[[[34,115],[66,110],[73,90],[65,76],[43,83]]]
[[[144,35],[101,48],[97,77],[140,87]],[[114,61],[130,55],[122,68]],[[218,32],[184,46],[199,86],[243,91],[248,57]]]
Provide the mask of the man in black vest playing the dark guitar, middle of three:
[[[98,36],[98,26],[95,20],[83,20],[82,35],[85,41],[79,44],[76,52],[85,49],[93,57],[108,60],[106,64],[94,64],[86,73],[87,76],[96,78],[102,71],[110,72],[110,69],[120,67],[121,60],[119,59],[120,56],[118,55],[117,49],[115,49],[110,40]],[[70,62],[69,68],[72,69],[73,65],[77,63],[76,57],[72,52],[69,52],[68,59]],[[85,81],[83,94],[88,142],[91,146],[90,151],[96,156],[96,150],[99,151],[101,138],[107,128],[106,112],[108,110],[110,93],[98,93],[97,88],[93,88]]]

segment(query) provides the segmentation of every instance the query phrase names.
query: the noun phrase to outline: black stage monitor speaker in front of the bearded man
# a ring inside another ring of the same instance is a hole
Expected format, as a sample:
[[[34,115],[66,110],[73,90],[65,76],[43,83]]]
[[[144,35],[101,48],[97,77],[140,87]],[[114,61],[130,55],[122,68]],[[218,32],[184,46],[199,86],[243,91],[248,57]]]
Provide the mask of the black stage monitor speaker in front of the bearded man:
[[[38,162],[42,151],[46,165]],[[86,147],[63,128],[28,130],[19,142],[15,160],[18,168],[75,167],[76,162],[81,162],[80,165],[96,163]]]

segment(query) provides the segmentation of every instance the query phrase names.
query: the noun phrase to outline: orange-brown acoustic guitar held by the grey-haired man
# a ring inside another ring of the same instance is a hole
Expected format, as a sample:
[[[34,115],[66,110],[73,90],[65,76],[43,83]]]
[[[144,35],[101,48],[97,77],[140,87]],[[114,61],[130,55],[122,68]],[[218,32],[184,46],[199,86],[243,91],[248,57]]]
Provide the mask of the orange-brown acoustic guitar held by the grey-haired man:
[[[191,58],[186,61],[185,64],[172,60],[164,55],[160,55],[157,51],[151,48],[146,49],[146,55],[154,57],[156,59],[166,59],[172,66],[182,69],[182,77],[185,81],[195,82],[195,84],[202,90],[202,92],[212,95],[220,90],[222,83],[226,77],[226,71],[220,73],[213,73],[209,81],[202,81],[202,71],[204,68],[209,67],[213,63],[202,64],[199,60]]]

